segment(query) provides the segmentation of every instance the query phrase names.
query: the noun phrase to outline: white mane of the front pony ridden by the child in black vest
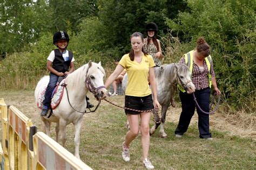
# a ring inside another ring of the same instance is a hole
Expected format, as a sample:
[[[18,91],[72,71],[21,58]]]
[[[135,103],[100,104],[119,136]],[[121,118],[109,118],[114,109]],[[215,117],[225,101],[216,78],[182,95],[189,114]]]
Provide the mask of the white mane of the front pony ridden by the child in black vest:
[[[71,88],[78,87],[79,83],[82,81],[85,85],[86,78],[90,77],[92,73],[96,72],[97,69],[99,69],[104,76],[106,76],[105,70],[103,67],[97,63],[92,62],[92,66],[88,70],[89,64],[85,64],[81,67],[79,67],[77,70],[69,74],[69,76],[66,78],[66,83]],[[87,72],[88,71],[88,72]],[[86,74],[87,72],[87,74]],[[72,81],[70,81],[72,80]]]

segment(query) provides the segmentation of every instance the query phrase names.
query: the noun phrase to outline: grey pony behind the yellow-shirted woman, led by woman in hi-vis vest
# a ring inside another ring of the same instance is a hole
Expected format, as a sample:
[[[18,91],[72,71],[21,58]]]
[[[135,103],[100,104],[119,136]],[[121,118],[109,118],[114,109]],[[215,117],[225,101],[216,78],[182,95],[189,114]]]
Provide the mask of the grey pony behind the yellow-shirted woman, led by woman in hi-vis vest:
[[[179,84],[186,89],[188,94],[193,93],[196,87],[191,80],[191,72],[185,64],[172,63],[165,64],[154,69],[156,81],[157,81],[157,98],[161,105],[161,118],[155,110],[153,110],[155,125],[150,129],[150,135],[156,132],[157,127],[160,126],[160,137],[167,138],[167,134],[164,132],[164,124],[166,111],[170,106],[171,98],[173,97],[173,85]],[[125,91],[127,85],[127,74],[125,74],[122,81],[122,89]],[[129,128],[129,121],[126,123]]]

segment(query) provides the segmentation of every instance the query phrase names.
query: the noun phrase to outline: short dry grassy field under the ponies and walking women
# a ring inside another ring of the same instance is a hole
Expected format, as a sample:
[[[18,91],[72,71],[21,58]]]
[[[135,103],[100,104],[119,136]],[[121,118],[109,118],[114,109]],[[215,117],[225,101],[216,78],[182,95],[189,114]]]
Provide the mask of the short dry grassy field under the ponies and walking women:
[[[0,97],[8,105],[14,105],[42,130],[41,120],[33,99],[33,91],[1,91]],[[89,94],[93,104],[95,99]],[[124,105],[124,96],[109,98]],[[158,131],[151,136],[149,159],[156,169],[256,169],[255,126],[237,131],[239,123],[228,126],[223,116],[211,115],[211,132],[214,140],[199,139],[197,116],[184,137],[174,137],[180,106],[169,108],[165,124],[168,138],[158,137]],[[140,135],[131,144],[131,161],[122,160],[121,144],[124,141],[126,116],[121,108],[106,101],[95,113],[84,115],[80,132],[80,158],[93,169],[143,169]],[[153,121],[151,121],[151,126]],[[254,124],[255,125],[255,124]],[[73,125],[67,128],[66,148],[74,153]],[[242,129],[242,128],[240,128]],[[247,133],[247,132],[251,133]],[[55,139],[54,130],[51,137]],[[247,134],[247,135],[246,135]]]

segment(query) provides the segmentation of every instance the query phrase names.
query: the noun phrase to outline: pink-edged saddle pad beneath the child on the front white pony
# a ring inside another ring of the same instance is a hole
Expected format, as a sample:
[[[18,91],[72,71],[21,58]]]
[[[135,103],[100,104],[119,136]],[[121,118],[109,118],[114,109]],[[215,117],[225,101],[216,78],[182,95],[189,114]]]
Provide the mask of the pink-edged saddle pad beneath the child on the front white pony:
[[[65,83],[65,77],[59,77],[58,81],[56,83],[55,88],[52,91],[51,94],[51,109],[54,110],[60,103],[60,100],[62,100],[63,92],[64,92],[64,86],[62,84]],[[39,98],[37,99],[37,107],[42,109],[43,107],[43,101],[44,101],[44,94],[46,91],[47,86],[44,88],[44,90],[40,93]]]

